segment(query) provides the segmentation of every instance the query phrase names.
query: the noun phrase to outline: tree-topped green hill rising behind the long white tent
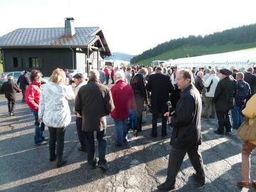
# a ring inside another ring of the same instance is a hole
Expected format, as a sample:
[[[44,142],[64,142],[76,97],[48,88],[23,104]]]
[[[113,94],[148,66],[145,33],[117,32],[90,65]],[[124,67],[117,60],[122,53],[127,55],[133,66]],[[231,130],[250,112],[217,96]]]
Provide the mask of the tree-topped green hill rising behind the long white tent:
[[[188,38],[166,41],[134,56],[130,63],[151,65],[152,60],[195,57],[248,48],[256,48],[256,23],[216,32],[204,37],[188,36]]]

